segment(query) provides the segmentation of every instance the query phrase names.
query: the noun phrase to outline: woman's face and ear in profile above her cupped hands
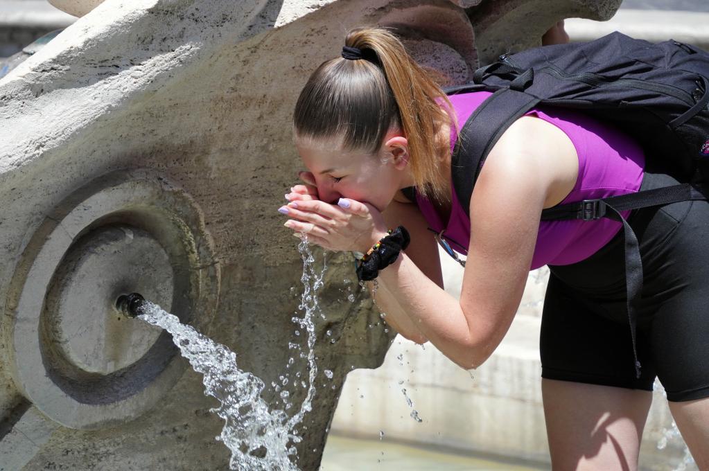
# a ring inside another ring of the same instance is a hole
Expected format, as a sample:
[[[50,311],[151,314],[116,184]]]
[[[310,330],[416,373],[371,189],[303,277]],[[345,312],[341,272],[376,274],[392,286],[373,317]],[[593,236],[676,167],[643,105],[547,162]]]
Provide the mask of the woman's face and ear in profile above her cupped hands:
[[[401,133],[390,132],[376,155],[342,150],[339,140],[296,137],[303,164],[313,174],[320,200],[340,198],[369,203],[384,211],[396,192],[413,184],[408,174],[408,147]]]

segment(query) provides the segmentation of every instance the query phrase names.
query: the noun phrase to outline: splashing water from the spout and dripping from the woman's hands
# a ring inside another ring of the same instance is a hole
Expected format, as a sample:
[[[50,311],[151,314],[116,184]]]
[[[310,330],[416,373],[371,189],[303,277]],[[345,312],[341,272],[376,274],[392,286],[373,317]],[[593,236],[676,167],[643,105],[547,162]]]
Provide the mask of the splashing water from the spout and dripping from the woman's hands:
[[[182,324],[177,316],[164,312],[152,302],[145,302],[143,314],[138,316],[138,319],[162,327],[172,334],[172,341],[179,347],[182,356],[196,372],[202,373],[205,394],[220,402],[220,406],[211,409],[211,412],[225,422],[216,440],[222,441],[231,450],[230,470],[298,470],[291,462],[291,457],[297,459],[294,445],[302,441],[295,427],[312,409],[318,373],[313,349],[316,338],[313,314],[320,312],[316,292],[323,286],[323,276],[327,269],[323,261],[322,271],[316,273],[315,259],[306,240],[298,244],[298,251],[303,259],[301,282],[304,288],[298,308],[304,314],[302,318],[293,317],[293,321],[308,333],[308,354],[301,356],[307,358],[309,375],[306,399],[298,412],[290,418],[285,411],[291,407],[288,402],[289,392],[281,392],[285,404],[283,410],[275,407],[269,410],[269,404],[261,398],[264,382],[252,373],[240,370],[236,354],[229,348]],[[323,315],[322,312],[320,315]],[[287,384],[287,378],[284,380],[284,384]],[[301,385],[306,386],[304,382]]]

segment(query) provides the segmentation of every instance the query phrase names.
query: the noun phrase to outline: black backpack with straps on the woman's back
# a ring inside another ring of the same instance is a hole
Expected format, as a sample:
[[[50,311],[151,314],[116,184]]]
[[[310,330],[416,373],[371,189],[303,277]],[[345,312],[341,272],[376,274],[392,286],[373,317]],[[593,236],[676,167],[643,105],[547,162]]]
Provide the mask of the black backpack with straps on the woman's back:
[[[470,207],[481,165],[515,120],[539,105],[576,108],[613,123],[642,146],[646,171],[686,182],[667,188],[558,205],[542,220],[610,217],[625,229],[627,312],[635,353],[635,304],[642,292],[637,237],[620,212],[706,200],[709,183],[709,54],[674,40],[654,45],[621,33],[584,43],[537,47],[481,67],[449,95],[492,91],[459,132],[452,154],[454,191]],[[472,178],[471,178],[472,176]]]

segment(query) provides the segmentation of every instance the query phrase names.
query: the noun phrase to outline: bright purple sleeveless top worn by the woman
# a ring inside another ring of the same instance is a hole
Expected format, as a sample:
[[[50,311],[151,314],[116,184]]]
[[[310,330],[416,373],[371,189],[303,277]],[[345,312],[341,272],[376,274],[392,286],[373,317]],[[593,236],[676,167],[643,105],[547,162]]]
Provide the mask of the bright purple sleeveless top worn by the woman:
[[[478,91],[450,96],[459,125],[463,125],[491,93]],[[552,123],[564,131],[579,155],[579,177],[571,193],[562,203],[605,198],[633,193],[640,189],[644,154],[630,137],[593,118],[561,108],[535,108],[527,115]],[[451,132],[451,149],[457,132]],[[452,192],[450,220],[442,220],[429,200],[416,193],[416,202],[428,225],[436,232],[445,229],[444,237],[452,248],[467,254],[470,243],[470,217],[463,210],[455,191]],[[624,212],[627,217],[630,212]],[[569,265],[588,258],[618,233],[622,223],[608,218],[595,221],[542,221],[531,270],[545,265]]]

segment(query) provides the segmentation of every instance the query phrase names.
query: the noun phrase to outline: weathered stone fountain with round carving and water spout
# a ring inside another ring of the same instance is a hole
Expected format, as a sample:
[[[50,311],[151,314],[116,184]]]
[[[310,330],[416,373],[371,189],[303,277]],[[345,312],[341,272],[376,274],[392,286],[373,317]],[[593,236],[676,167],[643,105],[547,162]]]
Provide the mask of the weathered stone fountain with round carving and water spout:
[[[0,470],[225,468],[200,376],[116,299],[143,293],[266,384],[283,373],[301,274],[276,212],[301,167],[291,112],[347,29],[396,28],[455,84],[620,0],[52,4],[81,17],[0,79]],[[316,356],[335,387],[306,417],[303,470],[347,373],[380,365],[394,334],[351,260],[328,264]]]

